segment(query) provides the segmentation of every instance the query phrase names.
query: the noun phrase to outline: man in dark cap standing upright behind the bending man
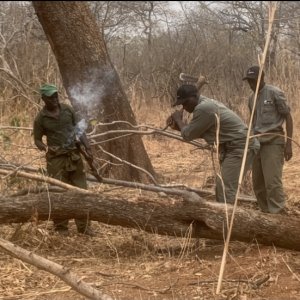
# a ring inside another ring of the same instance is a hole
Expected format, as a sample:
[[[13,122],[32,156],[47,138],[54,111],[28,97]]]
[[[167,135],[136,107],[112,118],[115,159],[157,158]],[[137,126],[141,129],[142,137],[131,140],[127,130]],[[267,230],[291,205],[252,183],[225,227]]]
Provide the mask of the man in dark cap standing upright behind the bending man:
[[[254,134],[259,136],[260,151],[253,162],[253,189],[258,205],[263,212],[280,213],[285,206],[282,186],[284,159],[292,156],[293,119],[284,93],[275,86],[264,82],[264,72],[258,88],[256,106],[253,107],[259,67],[247,70],[243,80],[247,80],[253,91],[249,98],[250,112],[254,111]],[[287,139],[282,128],[286,122]]]

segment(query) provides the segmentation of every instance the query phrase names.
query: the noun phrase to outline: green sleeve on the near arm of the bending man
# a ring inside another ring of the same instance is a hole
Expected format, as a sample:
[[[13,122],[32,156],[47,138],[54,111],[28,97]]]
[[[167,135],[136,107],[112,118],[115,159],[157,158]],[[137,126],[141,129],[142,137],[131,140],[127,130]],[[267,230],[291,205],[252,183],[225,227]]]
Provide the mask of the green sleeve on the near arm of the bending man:
[[[215,117],[211,112],[196,109],[191,122],[181,130],[181,136],[187,141],[201,138],[203,134],[215,124]]]

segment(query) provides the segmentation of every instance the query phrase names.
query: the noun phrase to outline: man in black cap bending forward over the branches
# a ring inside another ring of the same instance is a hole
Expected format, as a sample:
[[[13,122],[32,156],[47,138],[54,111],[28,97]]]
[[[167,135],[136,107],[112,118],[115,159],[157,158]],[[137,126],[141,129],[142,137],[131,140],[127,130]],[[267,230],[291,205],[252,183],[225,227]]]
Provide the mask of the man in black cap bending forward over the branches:
[[[247,126],[237,114],[222,103],[200,96],[194,85],[182,85],[177,90],[177,100],[174,105],[182,105],[184,110],[193,113],[189,124],[183,122],[180,111],[175,111],[167,120],[167,122],[173,120],[175,124],[173,123],[172,128],[181,131],[185,140],[202,138],[210,145],[217,145],[217,139],[219,140],[222,180],[219,177],[216,179],[216,200],[234,203]],[[250,168],[258,149],[258,141],[250,140],[244,174]]]

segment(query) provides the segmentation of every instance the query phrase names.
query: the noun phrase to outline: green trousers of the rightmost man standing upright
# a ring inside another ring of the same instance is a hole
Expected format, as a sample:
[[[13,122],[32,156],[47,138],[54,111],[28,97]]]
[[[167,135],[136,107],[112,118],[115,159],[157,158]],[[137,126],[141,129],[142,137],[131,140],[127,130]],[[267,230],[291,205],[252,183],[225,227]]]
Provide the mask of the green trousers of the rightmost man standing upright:
[[[282,186],[283,144],[261,144],[252,168],[253,189],[263,212],[279,213],[285,205]]]

